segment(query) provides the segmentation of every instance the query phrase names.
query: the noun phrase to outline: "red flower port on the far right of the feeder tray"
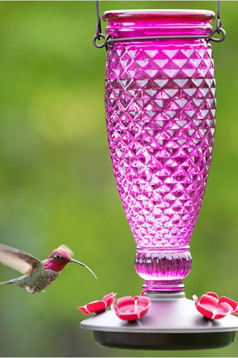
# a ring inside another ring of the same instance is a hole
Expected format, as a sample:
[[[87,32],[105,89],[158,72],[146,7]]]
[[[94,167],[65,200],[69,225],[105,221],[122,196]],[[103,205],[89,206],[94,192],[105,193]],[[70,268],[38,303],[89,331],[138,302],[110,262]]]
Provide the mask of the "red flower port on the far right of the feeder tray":
[[[223,318],[228,314],[238,313],[237,302],[231,300],[226,296],[222,296],[218,299],[218,296],[214,292],[207,292],[206,295],[202,295],[200,300],[196,295],[193,295],[195,306],[197,310],[205,317],[210,319]]]

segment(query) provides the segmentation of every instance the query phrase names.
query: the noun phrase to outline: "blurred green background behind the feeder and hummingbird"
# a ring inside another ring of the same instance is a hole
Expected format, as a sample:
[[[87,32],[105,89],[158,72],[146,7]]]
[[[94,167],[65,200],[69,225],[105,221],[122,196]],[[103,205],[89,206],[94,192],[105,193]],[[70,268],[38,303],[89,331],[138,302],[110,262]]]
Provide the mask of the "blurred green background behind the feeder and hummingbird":
[[[123,8],[216,10],[216,1],[101,1],[101,11]],[[237,1],[222,2],[216,141],[188,298],[210,290],[238,299],[237,13]],[[40,259],[65,243],[98,276],[69,265],[40,295],[1,286],[0,355],[235,357],[238,335],[219,350],[126,351],[98,347],[79,329],[77,306],[111,291],[135,295],[143,284],[108,153],[106,53],[92,45],[95,23],[94,1],[0,2],[0,241]],[[0,281],[17,275],[0,266]]]

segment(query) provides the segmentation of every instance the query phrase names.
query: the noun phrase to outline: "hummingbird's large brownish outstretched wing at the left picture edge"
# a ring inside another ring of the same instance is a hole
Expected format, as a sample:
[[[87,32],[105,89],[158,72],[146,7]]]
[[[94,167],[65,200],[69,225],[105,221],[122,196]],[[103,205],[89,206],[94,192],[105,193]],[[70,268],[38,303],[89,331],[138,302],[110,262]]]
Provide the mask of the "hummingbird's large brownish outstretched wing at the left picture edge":
[[[0,244],[0,262],[24,275],[30,275],[41,263],[38,258],[27,252]]]

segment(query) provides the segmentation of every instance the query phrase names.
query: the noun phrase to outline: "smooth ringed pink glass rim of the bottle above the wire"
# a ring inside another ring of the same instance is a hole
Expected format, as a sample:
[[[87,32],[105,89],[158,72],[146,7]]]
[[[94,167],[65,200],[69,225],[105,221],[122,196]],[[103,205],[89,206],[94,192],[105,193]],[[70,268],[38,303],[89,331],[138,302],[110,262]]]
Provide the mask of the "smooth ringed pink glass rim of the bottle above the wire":
[[[121,10],[107,11],[103,20],[112,38],[210,35],[214,15],[208,10]]]

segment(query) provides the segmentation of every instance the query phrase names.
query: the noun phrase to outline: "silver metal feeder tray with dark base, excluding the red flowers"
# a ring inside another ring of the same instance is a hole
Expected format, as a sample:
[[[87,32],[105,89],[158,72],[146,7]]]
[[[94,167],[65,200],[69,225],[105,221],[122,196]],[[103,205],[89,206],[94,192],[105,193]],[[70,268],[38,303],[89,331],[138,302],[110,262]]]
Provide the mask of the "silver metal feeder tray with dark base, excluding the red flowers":
[[[151,307],[142,319],[127,322],[107,310],[81,322],[102,347],[132,349],[208,349],[234,341],[238,318],[204,318],[184,292],[147,291]]]

